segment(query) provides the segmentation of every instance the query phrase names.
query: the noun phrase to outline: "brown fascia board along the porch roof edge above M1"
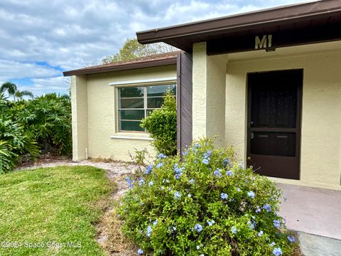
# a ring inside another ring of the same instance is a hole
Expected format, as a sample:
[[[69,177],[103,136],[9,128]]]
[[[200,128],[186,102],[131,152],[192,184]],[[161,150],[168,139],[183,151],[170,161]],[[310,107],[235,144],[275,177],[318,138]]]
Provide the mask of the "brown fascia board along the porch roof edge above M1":
[[[341,15],[341,0],[323,0],[281,6],[246,14],[184,23],[178,26],[156,28],[137,32],[136,35],[139,43],[167,43],[168,40],[176,41],[177,38],[195,38],[195,36],[210,36],[219,33],[244,31],[250,28],[276,26],[281,23],[293,23],[335,14]]]

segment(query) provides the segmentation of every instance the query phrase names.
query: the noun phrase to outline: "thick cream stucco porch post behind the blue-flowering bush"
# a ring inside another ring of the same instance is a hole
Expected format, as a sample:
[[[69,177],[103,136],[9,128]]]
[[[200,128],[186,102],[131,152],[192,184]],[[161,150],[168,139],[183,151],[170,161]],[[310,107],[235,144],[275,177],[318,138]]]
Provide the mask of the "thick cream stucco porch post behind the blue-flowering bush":
[[[227,63],[207,56],[206,42],[193,45],[193,139],[217,137],[224,146]]]

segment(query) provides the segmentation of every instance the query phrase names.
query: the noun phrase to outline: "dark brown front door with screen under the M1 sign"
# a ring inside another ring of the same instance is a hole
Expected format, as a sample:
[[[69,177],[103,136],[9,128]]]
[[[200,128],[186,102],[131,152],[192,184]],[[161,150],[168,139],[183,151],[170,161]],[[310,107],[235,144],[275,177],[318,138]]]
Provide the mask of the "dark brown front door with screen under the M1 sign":
[[[261,175],[300,178],[303,70],[248,74],[248,165]]]

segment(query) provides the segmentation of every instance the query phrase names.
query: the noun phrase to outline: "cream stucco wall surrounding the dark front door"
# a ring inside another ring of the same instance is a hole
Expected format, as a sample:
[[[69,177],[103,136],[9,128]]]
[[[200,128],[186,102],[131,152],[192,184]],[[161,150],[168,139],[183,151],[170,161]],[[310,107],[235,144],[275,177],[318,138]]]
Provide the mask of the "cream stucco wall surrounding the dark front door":
[[[245,159],[247,73],[303,68],[301,180],[273,180],[341,190],[340,60],[341,51],[337,50],[230,60],[226,75],[226,144],[234,146]]]

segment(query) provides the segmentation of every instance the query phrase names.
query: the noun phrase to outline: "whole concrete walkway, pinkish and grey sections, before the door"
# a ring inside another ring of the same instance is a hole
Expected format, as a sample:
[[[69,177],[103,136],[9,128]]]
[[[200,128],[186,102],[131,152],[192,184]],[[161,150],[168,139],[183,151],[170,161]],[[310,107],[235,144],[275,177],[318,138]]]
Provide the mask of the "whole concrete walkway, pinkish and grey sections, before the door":
[[[280,215],[288,229],[298,231],[306,256],[341,255],[341,191],[277,184],[286,201]]]

